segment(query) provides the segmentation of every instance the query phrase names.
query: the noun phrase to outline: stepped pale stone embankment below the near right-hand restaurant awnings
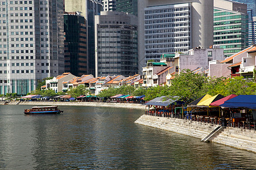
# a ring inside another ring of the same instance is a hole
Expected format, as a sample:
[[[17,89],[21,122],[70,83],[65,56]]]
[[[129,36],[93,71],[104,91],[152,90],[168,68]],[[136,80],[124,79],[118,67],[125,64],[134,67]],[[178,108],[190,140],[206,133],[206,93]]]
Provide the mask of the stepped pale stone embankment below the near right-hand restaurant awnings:
[[[182,120],[177,118],[155,117],[142,115],[135,121],[137,124],[151,126],[163,130],[189,135],[203,139],[207,137],[218,125],[203,122]],[[236,147],[239,149],[256,152],[256,131],[227,127],[210,141]]]

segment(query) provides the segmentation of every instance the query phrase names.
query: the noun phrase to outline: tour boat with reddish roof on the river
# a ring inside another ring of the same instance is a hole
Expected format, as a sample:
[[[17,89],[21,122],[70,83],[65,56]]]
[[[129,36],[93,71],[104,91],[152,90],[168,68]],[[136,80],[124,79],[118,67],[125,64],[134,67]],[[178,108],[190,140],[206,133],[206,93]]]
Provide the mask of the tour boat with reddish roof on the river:
[[[25,109],[24,114],[60,114],[63,111],[57,108],[57,106],[44,106],[44,107],[32,107],[31,109]]]

